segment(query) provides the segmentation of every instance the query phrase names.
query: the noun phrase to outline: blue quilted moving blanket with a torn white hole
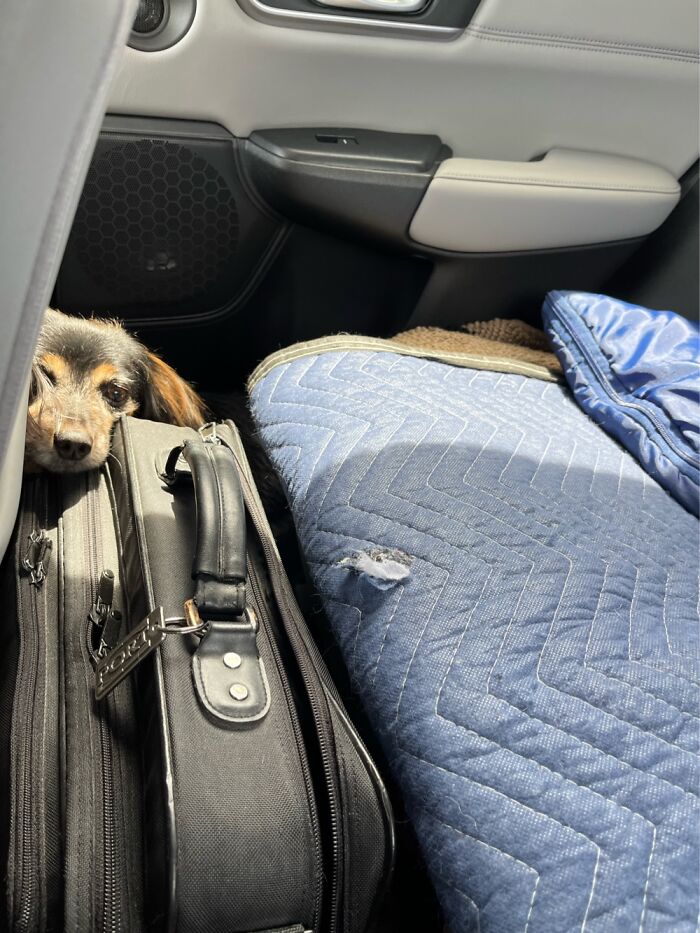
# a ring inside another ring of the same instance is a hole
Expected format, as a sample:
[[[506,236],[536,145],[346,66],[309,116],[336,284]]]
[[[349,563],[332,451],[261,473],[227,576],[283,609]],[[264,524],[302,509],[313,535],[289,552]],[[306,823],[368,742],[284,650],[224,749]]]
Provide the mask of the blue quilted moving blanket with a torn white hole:
[[[697,519],[558,384],[333,352],[252,404],[451,929],[696,931]]]

